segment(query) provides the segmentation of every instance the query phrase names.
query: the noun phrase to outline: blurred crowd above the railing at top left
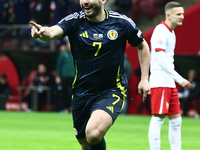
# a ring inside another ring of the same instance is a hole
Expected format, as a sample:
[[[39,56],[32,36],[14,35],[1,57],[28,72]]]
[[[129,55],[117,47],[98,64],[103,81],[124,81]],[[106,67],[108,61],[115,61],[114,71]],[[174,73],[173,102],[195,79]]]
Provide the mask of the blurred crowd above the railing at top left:
[[[52,25],[80,10],[79,0],[0,0],[0,24]]]

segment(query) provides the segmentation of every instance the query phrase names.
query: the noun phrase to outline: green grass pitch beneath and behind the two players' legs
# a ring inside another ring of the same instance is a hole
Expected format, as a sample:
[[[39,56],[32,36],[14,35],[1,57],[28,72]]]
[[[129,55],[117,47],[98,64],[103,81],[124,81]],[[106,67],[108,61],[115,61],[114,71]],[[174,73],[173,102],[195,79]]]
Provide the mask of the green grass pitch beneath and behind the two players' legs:
[[[105,136],[107,150],[149,150],[149,121],[120,115]],[[0,150],[81,150],[72,126],[71,114],[0,111]],[[170,150],[167,118],[161,140],[161,150]],[[182,150],[199,149],[200,119],[183,118]]]

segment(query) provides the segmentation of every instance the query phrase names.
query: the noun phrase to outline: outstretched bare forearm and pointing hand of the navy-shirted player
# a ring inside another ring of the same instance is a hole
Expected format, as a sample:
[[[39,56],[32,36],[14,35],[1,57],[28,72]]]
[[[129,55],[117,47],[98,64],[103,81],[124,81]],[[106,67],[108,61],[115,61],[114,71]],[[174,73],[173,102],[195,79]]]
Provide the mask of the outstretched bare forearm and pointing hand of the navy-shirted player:
[[[63,36],[63,30],[58,25],[51,27],[43,27],[33,21],[30,21],[33,25],[31,28],[31,36],[33,38],[40,38],[42,41],[51,41],[53,39],[58,39]]]

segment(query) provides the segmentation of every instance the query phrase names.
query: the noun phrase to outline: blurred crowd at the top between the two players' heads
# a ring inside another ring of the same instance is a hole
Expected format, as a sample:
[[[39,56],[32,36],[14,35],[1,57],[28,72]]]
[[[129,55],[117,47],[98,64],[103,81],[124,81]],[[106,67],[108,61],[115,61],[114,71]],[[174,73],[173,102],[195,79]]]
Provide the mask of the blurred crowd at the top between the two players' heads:
[[[107,0],[107,7],[125,14],[136,23],[140,19],[151,20],[159,14],[164,14],[167,2],[174,0]]]

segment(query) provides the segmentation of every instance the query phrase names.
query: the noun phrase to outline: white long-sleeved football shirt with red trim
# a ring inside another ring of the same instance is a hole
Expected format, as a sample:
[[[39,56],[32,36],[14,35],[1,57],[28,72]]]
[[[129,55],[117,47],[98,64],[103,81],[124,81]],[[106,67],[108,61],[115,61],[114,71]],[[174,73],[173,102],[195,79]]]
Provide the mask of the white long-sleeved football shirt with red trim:
[[[183,77],[174,70],[176,36],[165,22],[157,25],[151,37],[150,87],[176,87]]]

